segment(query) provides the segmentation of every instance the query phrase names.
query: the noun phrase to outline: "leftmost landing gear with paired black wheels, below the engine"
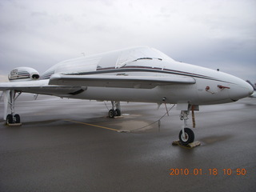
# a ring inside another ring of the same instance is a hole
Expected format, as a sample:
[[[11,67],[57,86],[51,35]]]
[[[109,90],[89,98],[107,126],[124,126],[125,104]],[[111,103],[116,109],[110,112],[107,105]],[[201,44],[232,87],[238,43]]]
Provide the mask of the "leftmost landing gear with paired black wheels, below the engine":
[[[18,98],[18,96],[22,94],[21,92],[18,92],[18,95],[16,97],[16,91],[15,90],[10,90],[10,114],[7,114],[6,116],[6,125],[7,126],[12,126],[12,125],[21,125],[21,118],[18,114],[15,114],[14,112],[14,102]],[[8,98],[6,98],[9,100]],[[6,101],[7,102],[7,101]],[[8,102],[7,102],[8,104]]]

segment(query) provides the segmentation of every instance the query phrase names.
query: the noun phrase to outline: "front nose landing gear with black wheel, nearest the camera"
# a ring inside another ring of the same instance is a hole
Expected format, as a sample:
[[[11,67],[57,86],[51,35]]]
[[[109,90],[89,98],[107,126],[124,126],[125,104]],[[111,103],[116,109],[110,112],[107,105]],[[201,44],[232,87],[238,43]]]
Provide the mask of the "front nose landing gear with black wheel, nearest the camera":
[[[189,114],[190,110],[182,110],[180,115],[181,120],[184,120],[184,125],[182,126],[182,130],[178,134],[178,138],[184,146],[187,146],[190,142],[194,142],[194,132],[187,127],[187,120]]]

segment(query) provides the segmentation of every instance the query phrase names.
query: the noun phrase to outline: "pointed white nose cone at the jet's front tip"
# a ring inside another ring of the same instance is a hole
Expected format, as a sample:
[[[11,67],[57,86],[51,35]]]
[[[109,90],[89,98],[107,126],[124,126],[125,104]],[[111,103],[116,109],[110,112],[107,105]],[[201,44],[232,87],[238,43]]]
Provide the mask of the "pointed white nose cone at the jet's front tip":
[[[254,93],[254,88],[246,81],[236,78],[235,83],[230,86],[230,98],[237,101],[240,98],[246,98]]]

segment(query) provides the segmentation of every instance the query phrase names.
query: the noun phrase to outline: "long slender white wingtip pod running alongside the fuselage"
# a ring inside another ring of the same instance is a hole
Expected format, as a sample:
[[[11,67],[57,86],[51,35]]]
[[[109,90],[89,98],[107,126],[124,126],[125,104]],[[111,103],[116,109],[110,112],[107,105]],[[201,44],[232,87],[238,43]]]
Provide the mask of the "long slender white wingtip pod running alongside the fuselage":
[[[120,88],[152,89],[155,86],[194,84],[194,78],[184,76],[125,76],[125,75],[65,75],[54,74],[49,85],[100,86]]]

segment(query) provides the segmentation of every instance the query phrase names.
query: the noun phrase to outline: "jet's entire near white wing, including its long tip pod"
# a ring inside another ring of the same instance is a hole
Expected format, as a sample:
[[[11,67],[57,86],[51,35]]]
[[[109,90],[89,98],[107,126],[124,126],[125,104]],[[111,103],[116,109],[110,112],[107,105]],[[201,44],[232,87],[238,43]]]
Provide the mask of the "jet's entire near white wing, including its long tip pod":
[[[81,93],[86,86],[152,89],[155,86],[194,84],[194,78],[175,76],[115,76],[54,74],[47,80],[1,82],[0,90],[17,90],[32,94],[68,96]]]

